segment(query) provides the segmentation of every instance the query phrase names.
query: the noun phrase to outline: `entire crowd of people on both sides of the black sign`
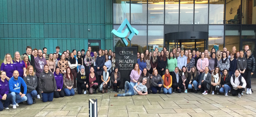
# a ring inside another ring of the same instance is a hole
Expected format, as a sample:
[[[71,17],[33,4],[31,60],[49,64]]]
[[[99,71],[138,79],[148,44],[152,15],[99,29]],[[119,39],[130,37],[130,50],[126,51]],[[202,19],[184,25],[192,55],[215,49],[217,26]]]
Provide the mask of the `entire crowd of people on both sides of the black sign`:
[[[66,50],[47,54],[47,48],[33,49],[26,53],[7,53],[1,64],[0,111],[14,109],[19,103],[43,102],[53,98],[78,94],[107,93],[109,88],[119,92],[122,75],[115,64],[116,54],[111,49],[92,52]],[[137,63],[130,72],[130,82],[124,84],[125,93],[114,96],[132,96],[161,93],[223,93],[241,97],[243,91],[252,94],[250,78],[255,70],[255,58],[248,45],[245,51],[223,51],[212,48],[208,52],[166,47],[160,52],[146,50],[137,53]],[[245,89],[246,87],[246,89]]]

